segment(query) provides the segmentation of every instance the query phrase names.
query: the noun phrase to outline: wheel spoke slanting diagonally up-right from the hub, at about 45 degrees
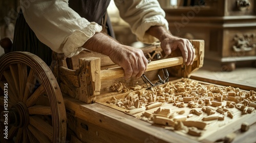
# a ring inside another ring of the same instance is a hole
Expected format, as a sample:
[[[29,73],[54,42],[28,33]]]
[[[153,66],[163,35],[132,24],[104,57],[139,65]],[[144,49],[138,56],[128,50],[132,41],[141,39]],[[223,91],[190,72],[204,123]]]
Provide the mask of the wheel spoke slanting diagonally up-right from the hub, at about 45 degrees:
[[[27,107],[30,107],[36,103],[36,101],[39,99],[39,97],[45,92],[45,88],[43,85],[40,85],[35,92],[32,94],[32,96],[27,100],[26,105]]]

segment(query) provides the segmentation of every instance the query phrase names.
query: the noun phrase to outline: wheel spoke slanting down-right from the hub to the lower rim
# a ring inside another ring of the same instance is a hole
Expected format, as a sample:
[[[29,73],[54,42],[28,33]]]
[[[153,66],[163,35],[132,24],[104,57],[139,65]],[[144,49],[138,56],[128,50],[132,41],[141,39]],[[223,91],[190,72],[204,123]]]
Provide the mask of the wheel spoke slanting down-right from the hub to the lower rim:
[[[53,140],[53,127],[37,116],[29,117],[30,125],[34,126],[42,134],[46,135],[47,138]],[[36,135],[35,135],[36,137]]]

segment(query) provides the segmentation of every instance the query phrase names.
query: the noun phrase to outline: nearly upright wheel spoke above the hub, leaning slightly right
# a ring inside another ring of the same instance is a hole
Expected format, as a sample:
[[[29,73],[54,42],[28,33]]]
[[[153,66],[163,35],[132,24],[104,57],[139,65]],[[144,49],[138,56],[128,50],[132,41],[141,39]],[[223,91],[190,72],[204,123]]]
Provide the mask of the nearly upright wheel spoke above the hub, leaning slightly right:
[[[26,86],[25,86],[24,98],[23,98],[24,103],[27,101],[27,99],[32,94],[32,92],[35,88],[36,78],[37,78],[37,76],[35,74],[35,70],[33,70],[31,68],[30,71],[29,71],[29,76],[27,78],[27,83],[26,83]]]

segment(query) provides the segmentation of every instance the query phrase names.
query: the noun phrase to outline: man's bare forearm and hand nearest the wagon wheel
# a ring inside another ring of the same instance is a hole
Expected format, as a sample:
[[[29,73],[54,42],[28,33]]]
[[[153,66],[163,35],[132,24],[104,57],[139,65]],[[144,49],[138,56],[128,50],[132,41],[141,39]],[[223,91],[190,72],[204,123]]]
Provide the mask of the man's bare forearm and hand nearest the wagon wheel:
[[[148,61],[142,50],[120,44],[105,34],[96,33],[82,47],[109,56],[123,68],[126,79],[140,78],[145,73]]]

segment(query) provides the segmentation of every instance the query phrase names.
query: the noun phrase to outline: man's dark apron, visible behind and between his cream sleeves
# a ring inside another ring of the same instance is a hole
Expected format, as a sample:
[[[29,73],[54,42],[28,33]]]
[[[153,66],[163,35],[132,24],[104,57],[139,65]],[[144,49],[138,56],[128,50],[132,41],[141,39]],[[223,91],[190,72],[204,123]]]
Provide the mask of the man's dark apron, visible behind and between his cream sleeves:
[[[99,25],[101,25],[102,18],[105,16],[109,4],[110,0],[69,1],[69,7],[76,11],[81,17],[86,18],[90,22],[95,21]],[[106,27],[108,27],[108,34],[115,38],[109,17],[106,20]],[[37,39],[35,33],[28,26],[21,10],[15,23],[12,51],[27,51],[33,53],[44,60],[47,65],[51,65],[52,62],[52,50]]]

